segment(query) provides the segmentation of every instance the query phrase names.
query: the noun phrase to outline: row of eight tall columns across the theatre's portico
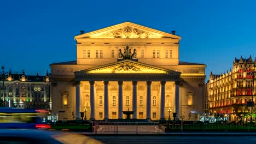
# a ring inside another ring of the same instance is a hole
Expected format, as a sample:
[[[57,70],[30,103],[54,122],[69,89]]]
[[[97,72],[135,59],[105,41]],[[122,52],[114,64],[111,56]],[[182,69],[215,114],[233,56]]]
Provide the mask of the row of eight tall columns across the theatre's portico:
[[[94,97],[94,81],[90,83],[90,120],[95,120],[95,97]],[[146,118],[151,119],[151,83],[147,81],[147,113]],[[160,119],[165,119],[165,83],[161,81],[161,99],[160,99]],[[80,118],[80,82],[76,84],[76,118]],[[175,82],[175,100],[174,112],[179,112],[179,82]],[[108,105],[108,81],[104,81],[104,119],[108,119],[109,115]],[[133,118],[137,118],[137,81],[132,81],[132,111],[134,111]],[[123,118],[123,81],[118,81],[118,119]]]

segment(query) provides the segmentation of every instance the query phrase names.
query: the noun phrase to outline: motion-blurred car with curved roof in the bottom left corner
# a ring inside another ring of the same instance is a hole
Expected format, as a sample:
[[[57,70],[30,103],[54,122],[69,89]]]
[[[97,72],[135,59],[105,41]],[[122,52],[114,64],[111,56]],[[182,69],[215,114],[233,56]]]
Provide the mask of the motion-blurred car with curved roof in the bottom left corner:
[[[0,143],[95,143],[102,142],[89,136],[63,131],[48,131],[36,129],[0,129]]]

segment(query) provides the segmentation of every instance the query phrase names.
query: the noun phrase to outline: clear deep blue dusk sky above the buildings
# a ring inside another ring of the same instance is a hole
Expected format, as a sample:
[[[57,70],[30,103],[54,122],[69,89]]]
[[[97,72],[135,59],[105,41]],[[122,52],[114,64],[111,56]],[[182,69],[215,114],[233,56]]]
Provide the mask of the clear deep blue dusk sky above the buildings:
[[[179,61],[220,74],[235,57],[256,57],[256,1],[1,1],[5,71],[45,75],[49,65],[76,60],[74,36],[130,21],[181,36]]]

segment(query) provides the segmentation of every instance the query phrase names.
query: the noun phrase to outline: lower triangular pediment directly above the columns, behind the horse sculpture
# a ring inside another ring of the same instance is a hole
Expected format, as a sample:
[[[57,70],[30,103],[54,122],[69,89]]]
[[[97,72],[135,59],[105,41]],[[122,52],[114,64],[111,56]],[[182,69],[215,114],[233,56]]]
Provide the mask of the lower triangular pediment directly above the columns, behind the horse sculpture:
[[[174,74],[180,75],[179,72],[155,67],[153,65],[139,63],[136,61],[131,61],[129,59],[110,63],[106,65],[101,65],[99,67],[94,67],[91,69],[79,71],[79,73],[83,74]]]

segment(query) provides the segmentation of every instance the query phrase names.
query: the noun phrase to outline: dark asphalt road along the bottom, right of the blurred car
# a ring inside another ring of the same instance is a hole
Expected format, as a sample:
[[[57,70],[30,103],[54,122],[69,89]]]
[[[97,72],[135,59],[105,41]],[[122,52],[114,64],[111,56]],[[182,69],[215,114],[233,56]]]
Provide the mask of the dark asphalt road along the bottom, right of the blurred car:
[[[107,144],[114,143],[203,143],[203,144],[251,144],[256,143],[256,136],[247,135],[91,135],[90,137]]]

